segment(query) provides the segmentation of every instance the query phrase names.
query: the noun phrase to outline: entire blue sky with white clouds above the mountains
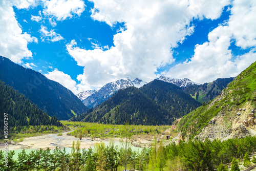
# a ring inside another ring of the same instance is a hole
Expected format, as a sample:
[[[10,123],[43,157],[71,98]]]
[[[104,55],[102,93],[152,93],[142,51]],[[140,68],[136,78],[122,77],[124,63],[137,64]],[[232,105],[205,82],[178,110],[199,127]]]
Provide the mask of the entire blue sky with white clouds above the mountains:
[[[75,94],[124,77],[210,82],[256,60],[253,0],[0,4],[0,55]]]

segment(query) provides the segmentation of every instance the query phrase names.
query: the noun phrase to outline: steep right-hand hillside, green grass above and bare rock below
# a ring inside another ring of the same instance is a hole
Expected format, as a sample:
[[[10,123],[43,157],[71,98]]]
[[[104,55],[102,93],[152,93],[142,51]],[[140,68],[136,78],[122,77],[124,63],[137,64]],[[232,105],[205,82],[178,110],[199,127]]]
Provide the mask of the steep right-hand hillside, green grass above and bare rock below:
[[[182,139],[228,139],[256,135],[256,62],[239,74],[214,100],[185,115]]]

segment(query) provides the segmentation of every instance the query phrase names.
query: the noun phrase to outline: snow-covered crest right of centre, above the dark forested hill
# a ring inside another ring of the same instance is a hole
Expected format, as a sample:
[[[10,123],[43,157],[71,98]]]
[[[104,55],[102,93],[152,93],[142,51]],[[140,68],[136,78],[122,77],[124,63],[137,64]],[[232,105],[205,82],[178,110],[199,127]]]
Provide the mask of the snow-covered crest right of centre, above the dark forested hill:
[[[157,80],[173,83],[176,86],[181,87],[181,88],[184,88],[184,87],[187,87],[187,86],[192,86],[192,85],[195,85],[195,84],[199,85],[199,83],[191,81],[188,78],[178,79],[178,78],[160,76],[159,78],[157,78]]]

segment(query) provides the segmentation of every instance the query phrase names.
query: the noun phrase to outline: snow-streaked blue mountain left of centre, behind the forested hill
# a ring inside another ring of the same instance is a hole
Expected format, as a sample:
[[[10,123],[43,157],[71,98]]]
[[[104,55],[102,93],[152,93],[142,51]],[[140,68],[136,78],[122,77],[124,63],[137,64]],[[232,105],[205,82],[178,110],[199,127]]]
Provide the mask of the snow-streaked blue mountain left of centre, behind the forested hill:
[[[103,101],[108,100],[114,93],[120,89],[125,89],[128,87],[141,87],[146,82],[136,78],[131,81],[129,78],[119,79],[117,81],[106,83],[98,91],[84,91],[76,95],[82,100],[88,108],[95,108],[97,105],[101,104]]]

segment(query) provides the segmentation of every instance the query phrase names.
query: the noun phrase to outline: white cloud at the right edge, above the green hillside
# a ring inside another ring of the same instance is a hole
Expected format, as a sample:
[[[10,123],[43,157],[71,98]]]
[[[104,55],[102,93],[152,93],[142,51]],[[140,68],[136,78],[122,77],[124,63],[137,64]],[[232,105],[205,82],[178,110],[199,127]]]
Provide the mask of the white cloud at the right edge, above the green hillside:
[[[208,41],[195,47],[195,54],[171,68],[167,76],[189,78],[204,83],[217,78],[235,77],[256,60],[256,2],[253,0],[232,2],[231,16],[225,26],[218,26],[208,34]],[[233,56],[231,41],[250,52]]]

